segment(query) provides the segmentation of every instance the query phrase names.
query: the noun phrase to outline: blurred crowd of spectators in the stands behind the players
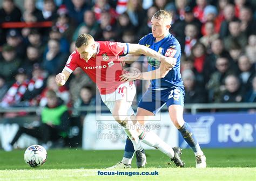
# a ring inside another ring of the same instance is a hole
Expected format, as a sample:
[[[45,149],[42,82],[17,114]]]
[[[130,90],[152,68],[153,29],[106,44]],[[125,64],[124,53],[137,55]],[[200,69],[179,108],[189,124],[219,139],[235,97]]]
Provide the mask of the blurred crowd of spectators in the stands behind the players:
[[[181,44],[185,103],[256,101],[256,1],[246,0],[3,0],[0,24],[45,22],[51,27],[0,29],[0,106],[45,106],[52,90],[73,107],[95,105],[96,86],[77,68],[65,86],[62,71],[75,40],[138,43],[151,17],[172,12],[170,33]],[[129,65],[139,69],[146,61]],[[141,96],[149,83],[136,81]],[[138,101],[138,99],[137,99]]]

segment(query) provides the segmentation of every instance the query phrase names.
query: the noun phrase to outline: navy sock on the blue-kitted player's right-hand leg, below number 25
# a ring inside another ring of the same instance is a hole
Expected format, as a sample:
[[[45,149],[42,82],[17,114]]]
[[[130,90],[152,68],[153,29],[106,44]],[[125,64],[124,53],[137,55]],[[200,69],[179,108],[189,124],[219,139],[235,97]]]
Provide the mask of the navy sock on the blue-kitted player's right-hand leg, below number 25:
[[[184,140],[187,142],[188,145],[193,149],[194,152],[200,151],[199,144],[197,142],[196,137],[193,134],[192,128],[189,124],[185,122],[185,124],[178,129],[183,136]]]

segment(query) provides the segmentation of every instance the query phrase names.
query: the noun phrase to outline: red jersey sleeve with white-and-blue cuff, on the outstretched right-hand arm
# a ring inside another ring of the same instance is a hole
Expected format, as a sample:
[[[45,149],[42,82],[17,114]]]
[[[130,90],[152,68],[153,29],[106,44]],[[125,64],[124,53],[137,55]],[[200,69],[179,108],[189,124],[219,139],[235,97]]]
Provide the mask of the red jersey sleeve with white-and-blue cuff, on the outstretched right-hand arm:
[[[129,44],[128,43],[120,43],[120,42],[110,42],[109,48],[114,56],[126,55],[129,53]]]

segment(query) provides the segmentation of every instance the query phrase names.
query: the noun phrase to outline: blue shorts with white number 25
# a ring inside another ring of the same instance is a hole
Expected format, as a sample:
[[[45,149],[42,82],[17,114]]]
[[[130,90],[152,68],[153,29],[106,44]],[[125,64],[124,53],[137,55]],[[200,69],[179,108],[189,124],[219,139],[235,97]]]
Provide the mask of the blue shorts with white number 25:
[[[147,89],[140,99],[138,107],[149,110],[157,114],[165,105],[167,108],[171,105],[184,106],[184,90],[182,88],[172,87],[164,90]]]

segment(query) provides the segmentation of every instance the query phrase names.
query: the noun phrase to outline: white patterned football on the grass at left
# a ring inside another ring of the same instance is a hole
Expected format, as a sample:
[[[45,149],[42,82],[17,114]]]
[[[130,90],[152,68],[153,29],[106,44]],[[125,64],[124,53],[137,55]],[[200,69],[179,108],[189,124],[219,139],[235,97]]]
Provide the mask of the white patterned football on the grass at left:
[[[24,161],[33,168],[42,166],[46,159],[47,152],[41,145],[31,145],[24,154]]]

